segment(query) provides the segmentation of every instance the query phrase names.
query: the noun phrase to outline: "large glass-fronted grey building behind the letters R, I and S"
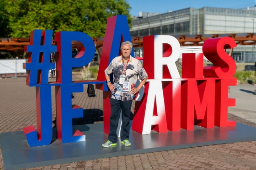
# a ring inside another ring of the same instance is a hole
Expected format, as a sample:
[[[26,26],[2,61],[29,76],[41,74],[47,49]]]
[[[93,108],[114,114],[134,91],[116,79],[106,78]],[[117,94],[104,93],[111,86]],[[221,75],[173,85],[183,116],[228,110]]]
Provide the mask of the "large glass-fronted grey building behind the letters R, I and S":
[[[187,8],[169,11],[165,14],[139,17],[133,20],[130,32],[131,36],[254,33],[254,22],[256,22],[255,7],[246,9]],[[234,59],[237,62],[255,62],[254,47],[235,48]]]

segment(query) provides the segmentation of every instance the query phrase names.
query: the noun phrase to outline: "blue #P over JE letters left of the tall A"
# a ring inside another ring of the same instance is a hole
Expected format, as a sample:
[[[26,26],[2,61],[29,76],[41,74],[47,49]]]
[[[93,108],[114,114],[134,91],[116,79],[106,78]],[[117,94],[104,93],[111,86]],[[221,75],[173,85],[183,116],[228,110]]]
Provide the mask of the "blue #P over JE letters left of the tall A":
[[[55,86],[57,136],[63,143],[85,141],[85,134],[72,130],[72,118],[83,117],[83,108],[72,105],[71,93],[83,92],[83,84],[101,81],[72,81],[72,67],[87,65],[94,57],[95,47],[90,36],[82,32],[60,31],[55,34],[57,46],[52,45],[51,30],[34,30],[30,45],[26,46],[28,62],[27,85],[36,87],[37,130],[28,126],[23,129],[29,146],[48,145],[52,140],[51,86]],[[41,39],[43,41],[41,41]],[[41,44],[41,42],[43,42]],[[78,53],[72,58],[72,42]],[[57,50],[56,50],[57,49]],[[48,83],[50,53],[56,52],[56,82]],[[37,72],[37,73],[36,73]]]

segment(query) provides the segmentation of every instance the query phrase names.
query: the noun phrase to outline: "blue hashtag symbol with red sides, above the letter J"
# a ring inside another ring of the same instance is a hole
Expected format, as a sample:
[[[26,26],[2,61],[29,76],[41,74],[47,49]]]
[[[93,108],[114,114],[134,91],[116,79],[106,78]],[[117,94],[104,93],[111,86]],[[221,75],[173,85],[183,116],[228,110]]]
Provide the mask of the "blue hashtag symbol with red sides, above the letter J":
[[[52,35],[53,30],[33,30],[29,46],[24,47],[24,52],[28,52],[26,69],[29,86],[48,84],[49,69],[55,68],[55,64],[50,62],[51,52],[57,51],[57,47],[52,46]]]

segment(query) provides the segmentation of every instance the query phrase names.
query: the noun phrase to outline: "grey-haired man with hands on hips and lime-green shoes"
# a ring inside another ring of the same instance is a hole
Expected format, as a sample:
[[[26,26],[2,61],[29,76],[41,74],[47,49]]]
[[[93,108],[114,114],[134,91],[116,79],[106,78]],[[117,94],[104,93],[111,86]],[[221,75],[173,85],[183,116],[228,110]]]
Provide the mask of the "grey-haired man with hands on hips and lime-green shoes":
[[[121,44],[122,56],[115,57],[105,70],[107,87],[111,90],[111,115],[110,132],[108,140],[103,147],[117,145],[117,126],[122,110],[121,140],[125,146],[131,146],[129,142],[130,112],[135,94],[143,87],[148,79],[148,74],[139,60],[131,57],[133,44],[125,41]],[[113,72],[113,83],[110,74]],[[134,87],[138,76],[142,79],[138,87]]]

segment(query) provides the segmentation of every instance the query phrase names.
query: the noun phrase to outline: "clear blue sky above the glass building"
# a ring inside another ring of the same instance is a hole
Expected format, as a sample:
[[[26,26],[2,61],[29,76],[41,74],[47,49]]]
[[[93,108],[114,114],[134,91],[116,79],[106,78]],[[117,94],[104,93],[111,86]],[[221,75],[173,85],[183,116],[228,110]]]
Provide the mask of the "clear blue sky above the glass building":
[[[132,7],[131,15],[139,12],[166,13],[168,10],[181,10],[189,7],[196,9],[204,6],[241,9],[256,5],[256,0],[127,0]]]

